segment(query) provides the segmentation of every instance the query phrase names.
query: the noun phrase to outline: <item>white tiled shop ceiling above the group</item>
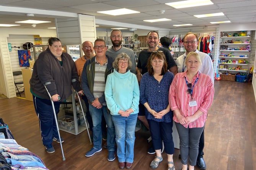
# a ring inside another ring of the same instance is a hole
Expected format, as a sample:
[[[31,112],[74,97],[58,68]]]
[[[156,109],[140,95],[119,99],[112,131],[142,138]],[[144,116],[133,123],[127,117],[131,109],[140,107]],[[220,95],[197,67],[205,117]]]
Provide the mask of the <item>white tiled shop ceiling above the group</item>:
[[[174,24],[193,24],[193,26],[212,25],[214,21],[231,21],[233,24],[256,22],[256,0],[211,0],[214,5],[175,9],[165,5],[181,0],[0,0],[0,24],[16,24],[15,21],[41,19],[52,23],[37,24],[38,28],[55,27],[54,18],[69,18],[73,13],[94,15],[97,19],[115,21],[120,27],[126,24],[154,28],[176,28]],[[19,8],[15,8],[19,7]],[[20,10],[22,9],[23,10]],[[27,9],[29,8],[29,9]],[[96,11],[128,8],[140,11],[130,15],[111,16]],[[160,14],[160,10],[165,10]],[[55,12],[54,12],[55,11]],[[65,12],[65,13],[60,13]],[[193,15],[223,12],[225,16],[196,18]],[[26,13],[34,13],[27,17]],[[70,13],[71,15],[65,15]],[[39,18],[38,18],[39,17]],[[42,18],[41,18],[42,17]],[[145,19],[168,18],[171,21],[148,23]],[[12,28],[31,28],[31,24],[22,24]],[[131,26],[132,28],[132,26]]]

